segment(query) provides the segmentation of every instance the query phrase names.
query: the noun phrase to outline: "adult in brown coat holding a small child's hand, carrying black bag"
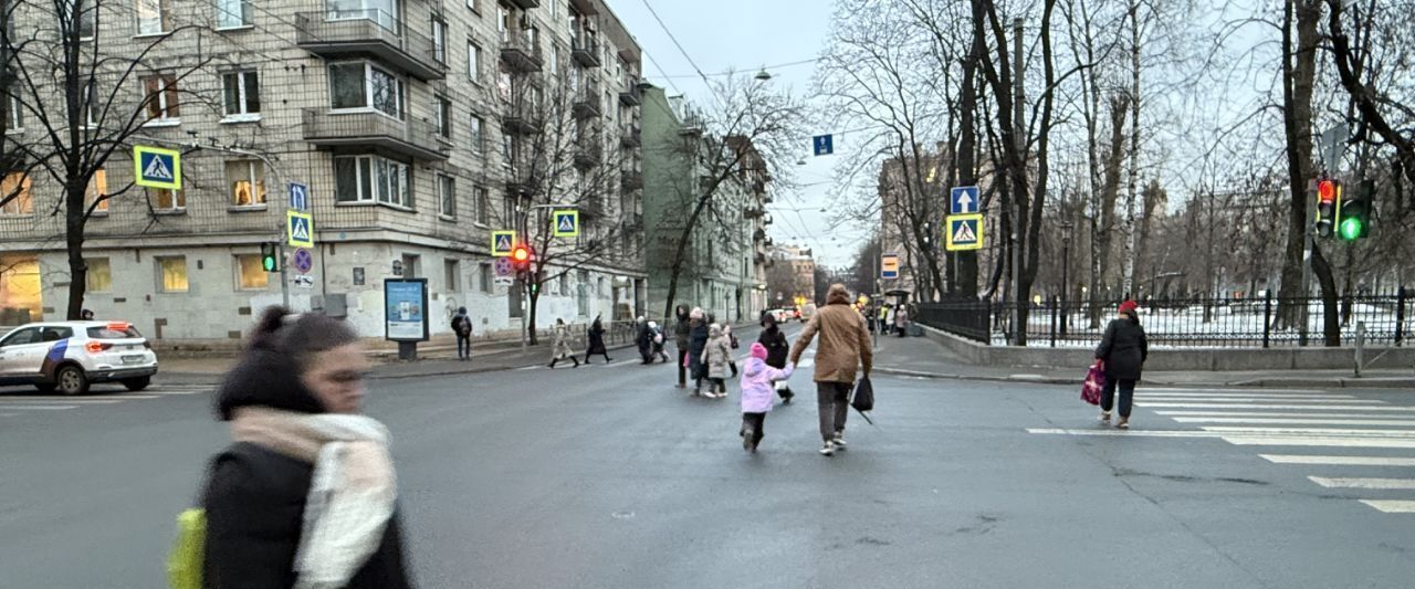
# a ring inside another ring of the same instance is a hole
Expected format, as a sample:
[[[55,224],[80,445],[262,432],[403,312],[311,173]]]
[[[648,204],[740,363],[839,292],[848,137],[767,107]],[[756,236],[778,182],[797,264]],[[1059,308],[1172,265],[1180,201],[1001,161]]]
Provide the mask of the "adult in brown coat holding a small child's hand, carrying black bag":
[[[845,418],[850,411],[856,370],[865,368],[865,378],[869,378],[874,361],[865,319],[850,307],[850,292],[845,285],[831,285],[825,307],[811,316],[791,347],[791,364],[799,364],[801,354],[818,334],[821,344],[815,353],[815,396],[821,412],[821,439],[825,442],[821,454],[832,456],[835,450],[846,447]]]

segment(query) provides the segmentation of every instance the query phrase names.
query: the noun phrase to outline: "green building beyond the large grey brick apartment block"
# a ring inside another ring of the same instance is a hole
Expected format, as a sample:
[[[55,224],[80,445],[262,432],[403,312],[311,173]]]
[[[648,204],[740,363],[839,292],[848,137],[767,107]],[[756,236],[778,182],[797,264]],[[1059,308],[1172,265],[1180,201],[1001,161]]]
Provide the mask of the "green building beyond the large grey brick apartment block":
[[[730,163],[715,157],[720,150],[740,150],[743,157]],[[771,202],[771,174],[766,161],[746,137],[710,136],[681,98],[655,86],[644,91],[644,161],[651,313],[688,304],[719,321],[756,321],[768,302],[771,218],[764,207]],[[713,183],[709,205],[693,219],[696,202]],[[693,229],[669,302],[674,256],[689,224]]]

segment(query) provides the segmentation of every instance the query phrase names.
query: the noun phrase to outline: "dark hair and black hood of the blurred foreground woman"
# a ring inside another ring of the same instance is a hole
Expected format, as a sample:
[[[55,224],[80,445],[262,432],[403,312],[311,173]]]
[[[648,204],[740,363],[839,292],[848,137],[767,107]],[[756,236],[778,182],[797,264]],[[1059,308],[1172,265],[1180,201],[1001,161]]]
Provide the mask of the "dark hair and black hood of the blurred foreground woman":
[[[358,341],[344,321],[323,314],[294,314],[275,306],[260,313],[241,361],[216,392],[216,415],[231,421],[242,406],[323,413],[324,405],[300,377],[311,355]]]

